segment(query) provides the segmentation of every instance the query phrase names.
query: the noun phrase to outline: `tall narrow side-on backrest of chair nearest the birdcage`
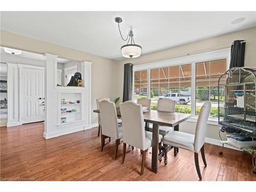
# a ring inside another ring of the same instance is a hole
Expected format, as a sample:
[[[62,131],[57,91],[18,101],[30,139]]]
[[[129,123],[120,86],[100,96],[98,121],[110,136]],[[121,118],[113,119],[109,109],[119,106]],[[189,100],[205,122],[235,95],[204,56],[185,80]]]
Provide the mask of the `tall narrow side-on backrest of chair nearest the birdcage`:
[[[209,117],[211,108],[211,103],[209,101],[205,102],[201,107],[200,114],[197,119],[195,140],[194,140],[194,150],[195,152],[199,152],[201,147],[204,144],[206,128],[207,128],[207,120]]]

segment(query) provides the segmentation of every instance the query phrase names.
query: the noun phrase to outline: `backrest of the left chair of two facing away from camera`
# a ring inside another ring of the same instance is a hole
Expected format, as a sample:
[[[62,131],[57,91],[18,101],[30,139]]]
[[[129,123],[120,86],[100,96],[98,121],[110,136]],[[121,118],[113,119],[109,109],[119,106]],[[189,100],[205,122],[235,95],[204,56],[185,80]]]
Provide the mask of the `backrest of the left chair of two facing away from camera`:
[[[116,105],[114,102],[102,100],[99,102],[102,135],[118,139],[118,124]]]

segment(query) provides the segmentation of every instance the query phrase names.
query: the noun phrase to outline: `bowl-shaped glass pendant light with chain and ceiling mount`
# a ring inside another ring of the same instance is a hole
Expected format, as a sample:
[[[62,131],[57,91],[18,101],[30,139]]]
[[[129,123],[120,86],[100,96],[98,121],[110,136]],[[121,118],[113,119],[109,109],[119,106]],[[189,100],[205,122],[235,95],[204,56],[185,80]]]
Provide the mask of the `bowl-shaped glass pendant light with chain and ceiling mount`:
[[[119,23],[122,22],[122,18],[121,17],[116,17],[115,18],[115,22],[118,24],[118,29],[119,29],[119,33],[121,35],[121,38],[127,41],[126,45],[123,45],[121,47],[121,51],[122,51],[122,56],[126,57],[126,58],[136,58],[139,57],[141,54],[141,49],[142,47],[140,45],[135,44],[134,42],[134,34],[133,34],[133,28],[131,28],[127,34],[126,39],[123,38],[121,31],[120,31],[120,27],[119,27]],[[130,43],[130,44],[129,44]]]

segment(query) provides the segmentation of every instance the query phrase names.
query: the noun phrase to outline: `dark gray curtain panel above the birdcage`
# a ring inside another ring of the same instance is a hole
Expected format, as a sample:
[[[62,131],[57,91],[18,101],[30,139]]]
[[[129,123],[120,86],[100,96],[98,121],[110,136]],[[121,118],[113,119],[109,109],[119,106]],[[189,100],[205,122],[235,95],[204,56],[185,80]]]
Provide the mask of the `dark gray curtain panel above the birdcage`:
[[[229,69],[244,67],[245,42],[242,41],[244,40],[235,40],[231,46]]]

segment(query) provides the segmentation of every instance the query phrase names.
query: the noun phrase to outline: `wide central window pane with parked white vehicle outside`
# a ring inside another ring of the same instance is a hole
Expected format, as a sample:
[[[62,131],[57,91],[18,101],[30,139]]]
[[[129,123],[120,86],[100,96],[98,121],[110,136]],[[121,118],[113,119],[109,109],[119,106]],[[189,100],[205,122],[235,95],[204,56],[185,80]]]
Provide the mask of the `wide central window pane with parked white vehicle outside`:
[[[151,70],[153,110],[162,97],[176,101],[176,112],[191,113],[191,64]]]

